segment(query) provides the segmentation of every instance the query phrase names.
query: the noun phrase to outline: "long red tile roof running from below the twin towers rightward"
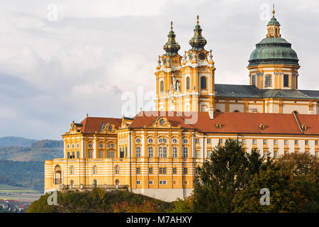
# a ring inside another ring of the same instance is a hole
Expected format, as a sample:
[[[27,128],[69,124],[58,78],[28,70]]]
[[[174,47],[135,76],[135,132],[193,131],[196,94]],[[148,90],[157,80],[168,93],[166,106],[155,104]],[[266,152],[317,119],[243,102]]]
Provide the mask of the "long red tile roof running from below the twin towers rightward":
[[[172,126],[206,133],[301,134],[293,114],[214,113],[211,120],[208,112],[143,111],[135,116],[130,128],[152,126],[158,116],[165,116]],[[300,126],[307,126],[304,134],[319,135],[319,115],[298,114],[298,121]],[[216,128],[216,123],[222,128]],[[265,126],[264,130],[259,128],[260,124]]]

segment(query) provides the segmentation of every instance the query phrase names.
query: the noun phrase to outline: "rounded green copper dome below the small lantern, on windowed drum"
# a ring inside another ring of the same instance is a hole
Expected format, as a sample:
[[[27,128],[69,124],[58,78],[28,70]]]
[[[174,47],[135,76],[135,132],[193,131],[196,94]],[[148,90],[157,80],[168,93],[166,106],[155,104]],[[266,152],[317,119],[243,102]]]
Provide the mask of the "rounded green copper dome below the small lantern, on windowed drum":
[[[256,49],[250,54],[249,65],[288,64],[299,65],[296,51],[281,37],[267,37],[256,44]]]

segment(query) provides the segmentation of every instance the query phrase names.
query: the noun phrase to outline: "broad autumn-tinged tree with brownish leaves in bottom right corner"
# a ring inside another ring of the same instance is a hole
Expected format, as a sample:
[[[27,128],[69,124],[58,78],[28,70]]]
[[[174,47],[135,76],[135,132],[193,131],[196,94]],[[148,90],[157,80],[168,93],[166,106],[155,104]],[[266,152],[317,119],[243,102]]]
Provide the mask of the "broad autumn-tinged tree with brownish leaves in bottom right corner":
[[[260,189],[270,192],[262,206]],[[236,194],[235,212],[318,212],[318,162],[306,153],[284,155],[272,168],[261,170],[250,187]]]

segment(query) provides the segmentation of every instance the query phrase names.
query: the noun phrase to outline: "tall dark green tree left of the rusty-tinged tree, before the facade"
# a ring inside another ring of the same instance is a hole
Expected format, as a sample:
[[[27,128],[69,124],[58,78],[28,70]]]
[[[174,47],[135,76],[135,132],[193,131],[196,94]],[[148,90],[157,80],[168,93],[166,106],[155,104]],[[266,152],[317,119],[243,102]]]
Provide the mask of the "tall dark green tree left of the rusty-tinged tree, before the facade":
[[[199,167],[194,187],[194,211],[232,212],[235,194],[247,188],[255,173],[272,165],[257,150],[245,153],[238,140],[228,139],[213,149],[210,160]]]

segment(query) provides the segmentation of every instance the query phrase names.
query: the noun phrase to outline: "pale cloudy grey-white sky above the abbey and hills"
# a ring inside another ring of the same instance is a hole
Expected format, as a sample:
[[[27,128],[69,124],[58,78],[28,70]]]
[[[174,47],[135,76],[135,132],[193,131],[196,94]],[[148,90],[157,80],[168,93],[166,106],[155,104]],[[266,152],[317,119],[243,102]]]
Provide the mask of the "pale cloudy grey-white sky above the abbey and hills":
[[[1,1],[0,137],[62,139],[86,114],[129,116],[128,100],[138,113],[138,100],[150,104],[155,94],[170,22],[183,55],[197,15],[216,84],[249,84],[247,61],[273,3],[281,37],[298,55],[299,89],[318,90],[317,0]]]

